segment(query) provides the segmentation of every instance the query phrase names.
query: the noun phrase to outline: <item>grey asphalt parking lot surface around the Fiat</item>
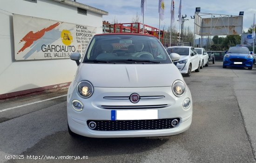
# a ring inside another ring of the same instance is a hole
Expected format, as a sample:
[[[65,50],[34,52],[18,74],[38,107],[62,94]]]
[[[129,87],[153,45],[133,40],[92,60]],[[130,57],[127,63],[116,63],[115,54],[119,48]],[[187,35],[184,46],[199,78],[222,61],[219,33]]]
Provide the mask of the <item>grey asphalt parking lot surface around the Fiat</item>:
[[[256,66],[210,63],[184,79],[192,125],[161,138],[71,137],[67,89],[2,100],[0,163],[256,163]]]

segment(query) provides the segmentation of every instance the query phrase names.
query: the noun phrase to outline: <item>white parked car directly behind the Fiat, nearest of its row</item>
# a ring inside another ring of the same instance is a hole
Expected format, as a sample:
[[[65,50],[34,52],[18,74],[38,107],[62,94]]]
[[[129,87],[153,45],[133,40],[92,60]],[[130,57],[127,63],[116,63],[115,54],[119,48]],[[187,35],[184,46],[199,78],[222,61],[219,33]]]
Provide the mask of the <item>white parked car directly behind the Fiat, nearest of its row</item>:
[[[190,76],[192,71],[199,72],[201,67],[200,56],[191,46],[172,46],[166,48],[168,54],[177,53],[181,56],[174,64],[185,76]]]

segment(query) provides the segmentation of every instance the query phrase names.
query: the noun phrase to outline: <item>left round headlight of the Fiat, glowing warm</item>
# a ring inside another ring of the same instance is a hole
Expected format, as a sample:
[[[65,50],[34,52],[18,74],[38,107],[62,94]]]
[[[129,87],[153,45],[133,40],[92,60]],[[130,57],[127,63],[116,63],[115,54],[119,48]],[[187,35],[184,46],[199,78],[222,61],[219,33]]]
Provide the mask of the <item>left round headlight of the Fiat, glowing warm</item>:
[[[81,81],[77,85],[77,93],[87,99],[94,93],[94,87],[89,81]]]

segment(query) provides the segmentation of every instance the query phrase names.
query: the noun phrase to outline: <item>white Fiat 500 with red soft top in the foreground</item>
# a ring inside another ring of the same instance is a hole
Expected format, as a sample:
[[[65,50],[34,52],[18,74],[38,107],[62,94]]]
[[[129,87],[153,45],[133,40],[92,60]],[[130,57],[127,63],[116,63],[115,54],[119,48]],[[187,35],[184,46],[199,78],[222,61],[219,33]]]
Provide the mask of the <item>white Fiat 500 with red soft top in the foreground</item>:
[[[188,86],[157,38],[95,35],[67,93],[68,131],[94,138],[179,134],[192,121]],[[81,62],[80,62],[81,59]]]

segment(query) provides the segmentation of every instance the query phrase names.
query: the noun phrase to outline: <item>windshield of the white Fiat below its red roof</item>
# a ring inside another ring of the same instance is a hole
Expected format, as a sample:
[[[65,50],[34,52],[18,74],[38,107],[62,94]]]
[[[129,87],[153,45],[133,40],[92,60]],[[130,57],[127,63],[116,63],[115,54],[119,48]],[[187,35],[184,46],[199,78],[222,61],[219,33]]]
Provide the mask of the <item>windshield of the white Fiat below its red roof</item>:
[[[172,63],[155,37],[99,35],[92,38],[83,63]]]

